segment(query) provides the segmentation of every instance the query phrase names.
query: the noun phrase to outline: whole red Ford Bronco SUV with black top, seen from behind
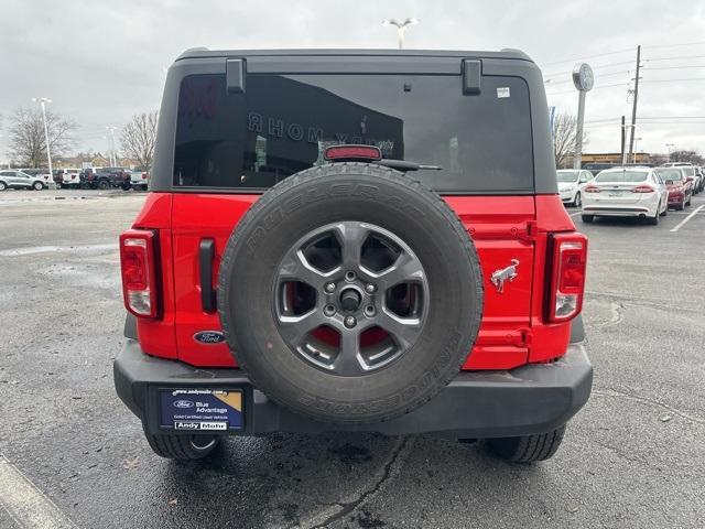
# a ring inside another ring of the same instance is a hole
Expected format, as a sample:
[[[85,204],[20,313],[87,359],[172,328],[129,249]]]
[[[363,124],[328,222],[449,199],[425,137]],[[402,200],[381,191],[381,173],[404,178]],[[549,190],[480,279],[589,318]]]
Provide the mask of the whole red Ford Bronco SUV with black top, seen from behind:
[[[188,51],[149,191],[115,384],[161,456],[369,431],[532,462],[588,399],[587,239],[521,52]]]

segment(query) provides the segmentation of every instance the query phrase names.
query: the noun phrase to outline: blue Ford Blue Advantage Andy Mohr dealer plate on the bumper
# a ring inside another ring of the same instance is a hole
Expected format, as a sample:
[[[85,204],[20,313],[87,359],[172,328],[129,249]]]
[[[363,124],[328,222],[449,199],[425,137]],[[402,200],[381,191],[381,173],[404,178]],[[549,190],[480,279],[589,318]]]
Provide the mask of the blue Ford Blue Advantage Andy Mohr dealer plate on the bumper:
[[[242,428],[242,391],[231,389],[163,389],[161,427],[182,431],[227,431]]]

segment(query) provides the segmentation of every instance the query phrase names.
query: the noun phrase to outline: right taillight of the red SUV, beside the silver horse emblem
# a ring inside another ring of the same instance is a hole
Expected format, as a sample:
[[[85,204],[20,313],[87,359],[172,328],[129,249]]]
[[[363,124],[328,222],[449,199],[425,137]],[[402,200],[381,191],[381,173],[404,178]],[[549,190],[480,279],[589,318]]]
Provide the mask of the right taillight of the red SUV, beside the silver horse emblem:
[[[553,236],[553,263],[549,296],[549,320],[565,322],[583,309],[587,237],[583,234]]]

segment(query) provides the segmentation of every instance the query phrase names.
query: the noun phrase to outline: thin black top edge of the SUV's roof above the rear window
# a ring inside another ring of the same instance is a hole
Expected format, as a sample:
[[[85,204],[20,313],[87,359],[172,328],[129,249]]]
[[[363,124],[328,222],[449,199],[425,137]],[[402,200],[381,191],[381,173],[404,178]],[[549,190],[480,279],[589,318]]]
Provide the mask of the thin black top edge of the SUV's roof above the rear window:
[[[446,51],[446,50],[208,50],[193,47],[182,53],[184,58],[248,57],[248,56],[370,56],[370,57],[458,57],[458,58],[506,58],[533,62],[520,50],[505,48],[499,52]]]

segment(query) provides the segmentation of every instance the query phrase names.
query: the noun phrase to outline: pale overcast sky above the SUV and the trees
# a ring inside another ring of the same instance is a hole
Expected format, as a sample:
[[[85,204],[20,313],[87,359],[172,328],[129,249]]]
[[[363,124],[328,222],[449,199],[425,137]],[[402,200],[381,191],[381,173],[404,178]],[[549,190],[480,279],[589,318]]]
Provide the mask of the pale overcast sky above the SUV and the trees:
[[[573,65],[595,68],[588,152],[619,150],[628,82],[642,45],[639,150],[705,151],[703,0],[0,0],[0,160],[8,116],[31,97],[79,128],[77,150],[107,150],[106,126],[159,108],[163,68],[184,50],[369,47],[397,44],[384,18],[416,17],[408,48],[517,47],[541,66],[549,105],[575,112]],[[680,45],[680,44],[687,45]],[[612,53],[616,52],[616,53]],[[680,58],[674,58],[680,57]],[[679,79],[679,80],[676,80]],[[614,86],[612,86],[614,85]],[[650,119],[651,118],[651,119]]]

